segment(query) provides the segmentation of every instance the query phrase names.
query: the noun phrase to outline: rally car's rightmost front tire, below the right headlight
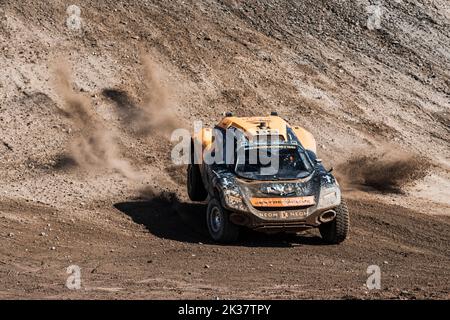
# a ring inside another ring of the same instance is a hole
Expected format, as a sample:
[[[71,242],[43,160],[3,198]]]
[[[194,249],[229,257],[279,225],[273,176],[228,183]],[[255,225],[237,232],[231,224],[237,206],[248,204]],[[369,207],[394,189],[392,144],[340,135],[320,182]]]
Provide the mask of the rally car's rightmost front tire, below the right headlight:
[[[322,239],[330,244],[338,244],[347,238],[350,229],[350,215],[344,199],[336,208],[336,218],[319,226]]]

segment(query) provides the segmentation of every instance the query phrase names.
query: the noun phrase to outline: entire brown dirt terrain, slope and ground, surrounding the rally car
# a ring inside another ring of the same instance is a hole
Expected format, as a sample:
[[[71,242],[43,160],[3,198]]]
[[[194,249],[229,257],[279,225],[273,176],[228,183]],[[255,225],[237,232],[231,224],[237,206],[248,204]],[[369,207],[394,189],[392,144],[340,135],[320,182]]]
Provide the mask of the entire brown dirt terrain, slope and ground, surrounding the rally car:
[[[0,298],[450,298],[447,1],[386,3],[381,30],[365,1],[105,0],[81,1],[71,32],[69,4],[0,0]],[[70,116],[61,60],[96,125]],[[327,166],[411,154],[426,174],[384,193],[345,184],[339,246],[316,231],[212,244],[152,116],[167,129],[274,109],[313,132]],[[92,132],[115,152],[77,165]],[[80,290],[65,287],[72,264]]]

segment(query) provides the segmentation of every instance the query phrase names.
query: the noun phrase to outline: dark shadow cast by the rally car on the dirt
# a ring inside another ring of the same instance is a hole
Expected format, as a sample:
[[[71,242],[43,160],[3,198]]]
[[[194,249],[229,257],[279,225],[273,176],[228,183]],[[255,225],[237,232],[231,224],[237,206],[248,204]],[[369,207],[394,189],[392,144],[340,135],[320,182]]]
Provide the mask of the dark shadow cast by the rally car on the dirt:
[[[216,244],[208,235],[206,204],[178,201],[175,198],[155,197],[116,203],[114,207],[144,225],[153,235],[190,243]],[[326,245],[315,231],[305,234],[264,234],[241,229],[239,240],[232,244],[246,247],[293,247]]]

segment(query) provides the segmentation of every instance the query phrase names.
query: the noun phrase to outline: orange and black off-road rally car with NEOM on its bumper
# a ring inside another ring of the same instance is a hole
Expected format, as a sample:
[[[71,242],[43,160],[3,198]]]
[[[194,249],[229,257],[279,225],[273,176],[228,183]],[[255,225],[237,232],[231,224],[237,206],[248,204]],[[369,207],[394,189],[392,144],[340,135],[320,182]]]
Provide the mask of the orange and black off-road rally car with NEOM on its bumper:
[[[347,237],[347,205],[316,156],[313,135],[276,112],[227,113],[213,129],[194,133],[190,156],[188,195],[208,202],[206,222],[215,241],[237,240],[241,227],[266,233],[319,228],[333,244]]]

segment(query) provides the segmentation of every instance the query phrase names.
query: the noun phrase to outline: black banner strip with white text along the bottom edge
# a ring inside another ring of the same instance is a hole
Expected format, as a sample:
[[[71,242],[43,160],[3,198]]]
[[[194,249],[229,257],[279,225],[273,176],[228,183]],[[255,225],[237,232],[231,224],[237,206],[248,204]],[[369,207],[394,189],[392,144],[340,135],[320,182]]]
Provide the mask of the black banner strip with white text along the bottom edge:
[[[29,307],[29,308],[28,308]],[[449,301],[432,300],[33,300],[3,301],[2,312],[15,317],[32,312],[33,316],[57,316],[64,318],[86,317],[91,312],[99,312],[102,317],[127,317],[142,315],[150,318],[170,319],[276,319],[281,316],[298,318],[311,315],[320,316],[388,316],[401,312],[402,316],[427,316],[430,311],[439,314],[441,308],[448,310]],[[62,312],[56,312],[58,309]],[[10,309],[10,310],[8,310]],[[11,311],[11,313],[8,313]]]

